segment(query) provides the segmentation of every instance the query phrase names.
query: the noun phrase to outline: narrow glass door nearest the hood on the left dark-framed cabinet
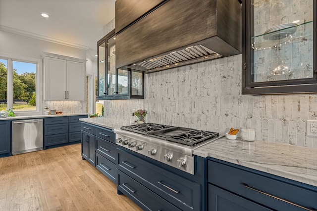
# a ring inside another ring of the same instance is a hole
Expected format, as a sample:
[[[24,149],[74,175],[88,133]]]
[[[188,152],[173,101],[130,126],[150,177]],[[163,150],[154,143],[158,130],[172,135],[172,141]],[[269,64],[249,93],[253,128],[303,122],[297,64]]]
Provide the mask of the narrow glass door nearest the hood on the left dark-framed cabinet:
[[[107,40],[107,94],[116,94],[115,35]]]

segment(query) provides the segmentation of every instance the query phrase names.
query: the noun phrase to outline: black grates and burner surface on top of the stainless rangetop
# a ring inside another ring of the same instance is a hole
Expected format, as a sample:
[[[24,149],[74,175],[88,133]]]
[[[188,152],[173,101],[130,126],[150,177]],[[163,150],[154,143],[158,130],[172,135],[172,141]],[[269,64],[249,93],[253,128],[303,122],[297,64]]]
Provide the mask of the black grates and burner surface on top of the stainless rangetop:
[[[145,123],[121,127],[123,130],[153,136],[159,139],[172,141],[188,146],[194,146],[205,140],[219,136],[217,132],[210,132],[186,127],[173,127],[155,123]]]

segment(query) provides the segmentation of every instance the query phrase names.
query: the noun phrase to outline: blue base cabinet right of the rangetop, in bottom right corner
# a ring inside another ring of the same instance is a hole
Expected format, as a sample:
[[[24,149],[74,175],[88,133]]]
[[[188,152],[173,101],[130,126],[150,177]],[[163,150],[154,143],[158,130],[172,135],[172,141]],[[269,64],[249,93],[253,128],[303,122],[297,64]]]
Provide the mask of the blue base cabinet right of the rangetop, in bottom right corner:
[[[317,187],[245,168],[208,160],[210,211],[317,210]]]

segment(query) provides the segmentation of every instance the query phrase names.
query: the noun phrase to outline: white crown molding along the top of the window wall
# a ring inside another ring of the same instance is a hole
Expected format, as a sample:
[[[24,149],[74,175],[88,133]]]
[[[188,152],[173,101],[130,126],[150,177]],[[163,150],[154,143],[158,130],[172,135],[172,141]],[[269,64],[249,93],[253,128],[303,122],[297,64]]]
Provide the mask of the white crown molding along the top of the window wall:
[[[5,32],[9,32],[9,33],[13,33],[13,34],[17,34],[17,35],[30,37],[30,38],[35,38],[35,39],[38,39],[38,40],[43,40],[43,41],[47,41],[47,42],[53,42],[53,43],[62,44],[62,45],[70,46],[70,47],[76,47],[76,48],[80,48],[80,49],[84,49],[84,50],[88,50],[89,49],[89,47],[85,46],[85,45],[76,44],[76,43],[72,43],[72,42],[66,42],[66,41],[62,41],[62,40],[58,40],[58,39],[54,39],[54,38],[50,38],[50,37],[34,34],[34,33],[31,33],[31,32],[22,31],[22,30],[19,30],[19,29],[14,29],[14,28],[7,27],[7,26],[0,25],[0,30],[1,31],[5,31]]]

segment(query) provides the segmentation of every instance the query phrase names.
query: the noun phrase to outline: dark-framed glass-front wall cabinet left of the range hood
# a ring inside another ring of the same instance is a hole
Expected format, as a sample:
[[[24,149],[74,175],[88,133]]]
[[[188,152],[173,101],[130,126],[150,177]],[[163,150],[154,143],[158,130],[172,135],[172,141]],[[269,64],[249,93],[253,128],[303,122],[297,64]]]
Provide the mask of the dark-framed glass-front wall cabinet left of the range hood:
[[[144,98],[142,72],[115,67],[114,30],[97,42],[98,45],[98,99]]]

